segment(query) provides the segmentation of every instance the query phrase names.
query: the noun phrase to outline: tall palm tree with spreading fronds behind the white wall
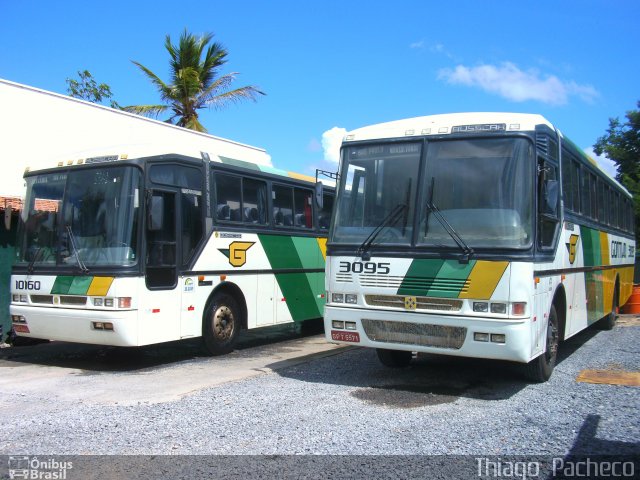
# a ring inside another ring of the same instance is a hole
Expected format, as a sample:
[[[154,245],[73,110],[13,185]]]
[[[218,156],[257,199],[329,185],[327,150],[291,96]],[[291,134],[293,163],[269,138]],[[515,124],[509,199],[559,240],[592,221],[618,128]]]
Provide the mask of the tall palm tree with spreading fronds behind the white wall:
[[[252,85],[229,90],[238,74],[234,72],[220,75],[220,67],[227,62],[228,52],[220,43],[214,42],[209,45],[212,38],[211,33],[197,37],[185,30],[176,46],[167,35],[165,48],[171,57],[170,83],[163,82],[147,67],[134,61],[133,63],[158,89],[163,104],[133,105],[123,107],[123,110],[154,118],[162,113],[171,112],[172,115],[167,122],[206,132],[207,129],[198,119],[198,110],[201,108],[223,108],[240,100],[256,101],[258,95],[264,95]]]

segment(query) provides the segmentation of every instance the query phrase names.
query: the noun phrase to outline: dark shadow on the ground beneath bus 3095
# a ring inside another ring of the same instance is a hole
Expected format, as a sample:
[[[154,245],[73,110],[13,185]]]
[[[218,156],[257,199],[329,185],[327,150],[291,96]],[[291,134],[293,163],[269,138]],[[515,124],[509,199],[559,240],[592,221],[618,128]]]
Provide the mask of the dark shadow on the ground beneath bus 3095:
[[[598,334],[595,328],[563,342],[558,364]],[[420,354],[406,368],[382,366],[375,350],[353,348],[331,360],[330,375],[297,366],[278,370],[283,377],[354,387],[351,395],[367,404],[416,408],[455,402],[458,398],[505,400],[525,388],[522,365],[474,358]]]

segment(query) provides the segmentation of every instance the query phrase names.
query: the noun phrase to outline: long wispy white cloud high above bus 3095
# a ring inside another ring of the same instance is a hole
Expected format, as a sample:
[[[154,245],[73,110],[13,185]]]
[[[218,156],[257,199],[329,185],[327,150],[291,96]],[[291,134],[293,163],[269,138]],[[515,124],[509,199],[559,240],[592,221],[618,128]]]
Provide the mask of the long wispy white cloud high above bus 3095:
[[[564,105],[570,96],[592,102],[599,95],[591,85],[562,81],[555,75],[542,75],[535,69],[520,70],[511,62],[504,62],[499,66],[458,65],[453,70],[450,68],[440,70],[438,78],[453,85],[478,87],[514,102],[537,100],[550,105]]]

